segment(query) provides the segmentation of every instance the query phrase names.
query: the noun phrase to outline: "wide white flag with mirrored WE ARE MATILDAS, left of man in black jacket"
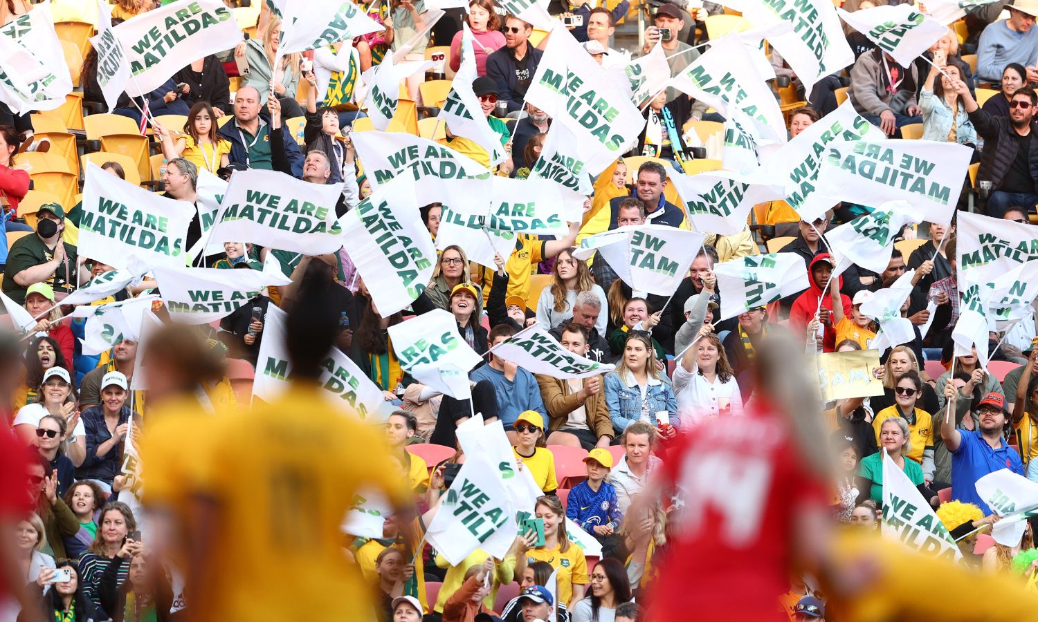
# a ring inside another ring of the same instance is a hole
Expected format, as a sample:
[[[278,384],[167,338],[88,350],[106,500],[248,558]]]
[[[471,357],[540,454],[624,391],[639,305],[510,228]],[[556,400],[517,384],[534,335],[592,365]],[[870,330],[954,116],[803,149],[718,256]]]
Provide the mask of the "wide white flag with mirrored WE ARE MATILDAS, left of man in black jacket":
[[[923,219],[947,225],[955,215],[973,149],[929,140],[856,140],[826,145],[818,174],[831,202],[908,201]]]

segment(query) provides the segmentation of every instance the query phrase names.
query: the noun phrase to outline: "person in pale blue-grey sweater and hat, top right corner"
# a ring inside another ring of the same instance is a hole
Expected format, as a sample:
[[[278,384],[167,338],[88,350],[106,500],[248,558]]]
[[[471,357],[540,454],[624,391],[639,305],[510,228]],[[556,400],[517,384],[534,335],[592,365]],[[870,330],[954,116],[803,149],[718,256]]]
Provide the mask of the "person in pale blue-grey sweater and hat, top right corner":
[[[1006,9],[1009,19],[984,28],[977,47],[977,77],[987,82],[998,82],[1009,63],[1033,66],[1038,58],[1038,31],[1033,28],[1038,5],[1014,0]],[[1029,76],[1028,82],[1035,82],[1034,78]]]

